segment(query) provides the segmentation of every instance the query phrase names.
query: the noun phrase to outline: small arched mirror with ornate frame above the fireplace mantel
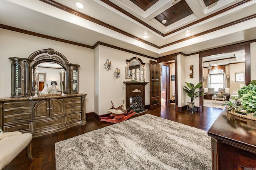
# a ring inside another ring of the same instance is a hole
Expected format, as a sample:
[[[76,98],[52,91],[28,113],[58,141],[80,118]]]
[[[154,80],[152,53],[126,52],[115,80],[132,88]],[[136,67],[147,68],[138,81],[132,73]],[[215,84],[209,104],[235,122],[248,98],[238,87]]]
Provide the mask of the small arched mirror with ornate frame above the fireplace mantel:
[[[145,78],[145,63],[138,57],[132,57],[130,60],[126,60],[127,66],[125,67],[125,78],[132,79],[134,74],[134,79],[139,77],[140,79]]]

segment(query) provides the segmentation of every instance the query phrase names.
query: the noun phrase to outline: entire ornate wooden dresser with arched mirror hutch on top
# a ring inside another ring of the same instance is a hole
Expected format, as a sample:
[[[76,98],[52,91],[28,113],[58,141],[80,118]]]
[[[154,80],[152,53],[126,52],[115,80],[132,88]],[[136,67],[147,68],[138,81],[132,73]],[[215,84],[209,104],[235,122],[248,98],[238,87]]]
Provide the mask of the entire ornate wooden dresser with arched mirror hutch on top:
[[[35,51],[28,58],[9,59],[11,98],[0,99],[4,132],[21,131],[35,137],[86,124],[86,94],[78,93],[80,65],[69,63],[50,48]],[[49,89],[50,82],[60,89]]]

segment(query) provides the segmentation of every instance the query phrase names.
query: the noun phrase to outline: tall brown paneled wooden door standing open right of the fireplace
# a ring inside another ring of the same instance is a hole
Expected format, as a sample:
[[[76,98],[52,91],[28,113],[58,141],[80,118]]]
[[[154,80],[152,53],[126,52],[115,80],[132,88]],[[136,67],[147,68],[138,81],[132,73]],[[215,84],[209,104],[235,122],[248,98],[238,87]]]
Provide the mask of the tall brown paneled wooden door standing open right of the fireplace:
[[[161,84],[160,84],[160,63],[150,61],[150,109],[160,107]]]

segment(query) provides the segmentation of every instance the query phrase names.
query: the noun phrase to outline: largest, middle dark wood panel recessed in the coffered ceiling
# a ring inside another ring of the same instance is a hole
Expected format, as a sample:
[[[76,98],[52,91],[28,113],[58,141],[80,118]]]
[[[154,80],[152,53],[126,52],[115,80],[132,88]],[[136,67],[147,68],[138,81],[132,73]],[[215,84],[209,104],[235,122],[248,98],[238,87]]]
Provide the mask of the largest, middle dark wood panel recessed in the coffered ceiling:
[[[168,8],[167,10],[156,16],[155,19],[159,22],[162,22],[162,20],[166,20],[166,23],[164,25],[168,26],[178,20],[181,20],[182,18],[185,18],[186,16],[189,16],[190,14],[193,14],[193,11],[190,9],[185,0],[181,0],[174,6]]]

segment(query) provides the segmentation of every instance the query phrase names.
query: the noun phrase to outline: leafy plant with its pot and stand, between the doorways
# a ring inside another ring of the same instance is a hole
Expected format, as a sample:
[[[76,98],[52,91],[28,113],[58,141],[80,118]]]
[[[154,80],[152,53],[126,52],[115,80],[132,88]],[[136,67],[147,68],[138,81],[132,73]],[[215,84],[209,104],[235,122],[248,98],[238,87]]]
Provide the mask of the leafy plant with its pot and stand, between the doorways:
[[[199,96],[203,96],[205,95],[204,93],[201,93],[202,90],[196,91],[196,89],[200,88],[203,84],[202,83],[198,83],[196,84],[196,86],[194,86],[193,83],[187,83],[187,86],[184,86],[183,90],[188,94],[188,96],[190,97],[191,102],[188,102],[188,110],[191,110],[192,113],[194,111],[194,107],[195,107],[195,103],[194,103],[194,98],[197,98]]]

